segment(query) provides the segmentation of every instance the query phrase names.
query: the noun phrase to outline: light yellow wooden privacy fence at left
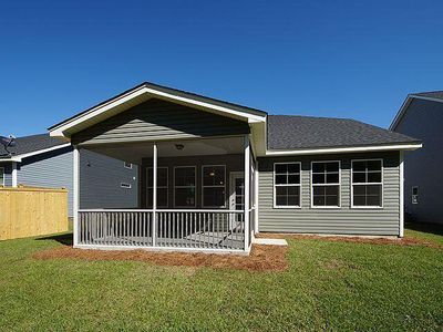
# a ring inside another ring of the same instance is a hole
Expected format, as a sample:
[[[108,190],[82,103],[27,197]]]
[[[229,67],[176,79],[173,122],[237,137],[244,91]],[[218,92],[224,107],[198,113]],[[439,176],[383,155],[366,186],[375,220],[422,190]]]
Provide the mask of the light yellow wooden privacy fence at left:
[[[66,189],[0,187],[0,240],[66,230]]]

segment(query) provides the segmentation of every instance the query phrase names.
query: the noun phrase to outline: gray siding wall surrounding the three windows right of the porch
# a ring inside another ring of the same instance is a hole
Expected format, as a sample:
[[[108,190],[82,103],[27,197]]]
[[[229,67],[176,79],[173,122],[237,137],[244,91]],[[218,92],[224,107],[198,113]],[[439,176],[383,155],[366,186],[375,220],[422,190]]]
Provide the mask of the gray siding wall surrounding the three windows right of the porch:
[[[351,159],[383,158],[383,208],[351,209]],[[311,208],[312,160],[341,162],[341,208]],[[274,208],[274,163],[301,162],[301,208]],[[259,231],[398,236],[399,153],[259,158]]]

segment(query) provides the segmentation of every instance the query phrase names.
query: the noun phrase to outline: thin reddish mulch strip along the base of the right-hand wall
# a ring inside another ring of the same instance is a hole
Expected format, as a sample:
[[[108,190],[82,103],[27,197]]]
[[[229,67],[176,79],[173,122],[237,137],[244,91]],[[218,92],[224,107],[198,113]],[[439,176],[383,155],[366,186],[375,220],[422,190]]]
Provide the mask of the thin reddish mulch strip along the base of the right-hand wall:
[[[443,247],[431,241],[416,238],[363,238],[363,237],[339,237],[339,236],[316,236],[316,235],[295,235],[295,234],[259,234],[258,238],[276,238],[276,239],[308,239],[332,242],[351,242],[351,243],[369,243],[369,245],[398,245],[398,246],[422,246],[434,249]]]

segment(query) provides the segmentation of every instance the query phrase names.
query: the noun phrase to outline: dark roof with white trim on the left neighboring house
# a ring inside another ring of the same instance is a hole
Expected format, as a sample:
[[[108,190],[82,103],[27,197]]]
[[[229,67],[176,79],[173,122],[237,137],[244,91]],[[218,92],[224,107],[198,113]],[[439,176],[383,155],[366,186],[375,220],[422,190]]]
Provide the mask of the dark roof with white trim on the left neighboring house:
[[[0,146],[0,160],[21,162],[21,158],[38,155],[44,152],[62,148],[70,144],[49,134],[38,134],[16,138],[16,146],[9,147],[11,156]]]

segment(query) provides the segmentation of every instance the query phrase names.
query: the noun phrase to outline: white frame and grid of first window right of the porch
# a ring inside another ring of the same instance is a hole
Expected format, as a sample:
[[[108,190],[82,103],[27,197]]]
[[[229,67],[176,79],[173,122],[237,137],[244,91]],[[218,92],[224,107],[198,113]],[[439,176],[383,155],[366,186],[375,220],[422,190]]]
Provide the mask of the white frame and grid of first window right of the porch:
[[[281,172],[278,170],[277,168],[279,165],[286,165],[286,170]],[[297,165],[298,169],[290,172],[289,165]],[[277,178],[285,178],[286,177],[286,183],[285,184],[277,184]],[[296,181],[298,177],[298,181]],[[292,180],[292,181],[291,181]],[[280,205],[278,204],[277,196],[282,196],[278,195],[278,188],[286,188],[286,205]],[[290,195],[289,189],[290,188],[296,188],[296,193]],[[298,193],[297,193],[298,191]],[[289,204],[289,197],[298,197],[298,204]],[[301,163],[296,162],[296,163],[275,163],[274,164],[274,208],[301,208]]]

